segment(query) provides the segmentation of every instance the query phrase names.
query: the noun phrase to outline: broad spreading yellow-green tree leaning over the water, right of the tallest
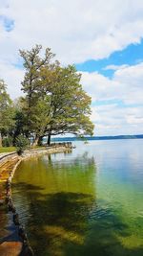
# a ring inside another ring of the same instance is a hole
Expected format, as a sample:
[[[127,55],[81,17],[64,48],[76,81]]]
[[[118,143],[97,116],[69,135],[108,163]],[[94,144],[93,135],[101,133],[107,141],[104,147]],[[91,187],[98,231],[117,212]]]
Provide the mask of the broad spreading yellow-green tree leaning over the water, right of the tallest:
[[[49,120],[45,129],[48,144],[51,135],[73,133],[92,135],[93,124],[90,120],[91,97],[82,89],[81,75],[74,66],[60,67],[55,65],[50,82],[50,70],[42,71],[42,81],[50,97]]]

